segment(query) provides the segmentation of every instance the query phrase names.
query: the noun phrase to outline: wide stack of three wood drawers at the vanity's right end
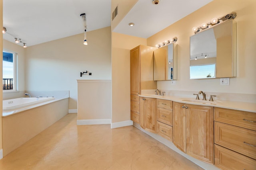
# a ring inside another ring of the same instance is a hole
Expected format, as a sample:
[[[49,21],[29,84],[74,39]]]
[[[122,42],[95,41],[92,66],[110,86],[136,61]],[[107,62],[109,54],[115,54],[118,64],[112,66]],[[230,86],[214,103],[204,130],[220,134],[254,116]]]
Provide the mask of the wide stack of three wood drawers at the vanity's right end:
[[[214,107],[215,166],[255,169],[256,113]]]

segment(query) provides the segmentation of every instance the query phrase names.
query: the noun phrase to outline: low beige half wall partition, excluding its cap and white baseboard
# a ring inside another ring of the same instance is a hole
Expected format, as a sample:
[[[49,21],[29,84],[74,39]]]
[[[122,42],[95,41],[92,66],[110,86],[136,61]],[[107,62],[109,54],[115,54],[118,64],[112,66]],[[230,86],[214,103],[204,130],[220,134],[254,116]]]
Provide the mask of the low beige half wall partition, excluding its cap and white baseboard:
[[[111,119],[111,80],[77,80],[77,83],[77,119]]]

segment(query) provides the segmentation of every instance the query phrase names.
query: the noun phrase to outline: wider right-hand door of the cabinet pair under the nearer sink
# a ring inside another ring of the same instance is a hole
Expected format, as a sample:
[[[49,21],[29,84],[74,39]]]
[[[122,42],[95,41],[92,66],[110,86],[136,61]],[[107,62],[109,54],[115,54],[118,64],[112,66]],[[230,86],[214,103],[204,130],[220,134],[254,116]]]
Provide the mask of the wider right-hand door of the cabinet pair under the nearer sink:
[[[214,164],[213,107],[186,104],[186,153]]]

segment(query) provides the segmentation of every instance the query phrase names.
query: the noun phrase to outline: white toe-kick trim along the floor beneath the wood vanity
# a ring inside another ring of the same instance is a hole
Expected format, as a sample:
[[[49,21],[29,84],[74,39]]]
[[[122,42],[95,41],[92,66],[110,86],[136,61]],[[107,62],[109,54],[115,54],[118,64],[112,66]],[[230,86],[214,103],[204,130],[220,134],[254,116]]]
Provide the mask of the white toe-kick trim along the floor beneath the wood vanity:
[[[177,152],[178,154],[181,154],[182,156],[184,156],[185,158],[187,158],[188,160],[194,162],[195,164],[197,164],[198,166],[204,168],[205,170],[220,170],[219,168],[217,168],[214,165],[208,164],[206,162],[202,162],[200,160],[197,160],[196,158],[193,158],[191,156],[189,156],[188,154],[185,154],[184,152],[182,152],[180,149],[178,149],[171,141],[168,141],[167,139],[159,136],[156,133],[151,133],[149,131],[146,131],[144,129],[142,129],[140,127],[140,124],[135,123],[134,122],[134,127],[137,127],[138,129],[140,129],[142,132],[150,135],[151,137],[153,137],[154,139],[156,139],[157,141],[159,141],[160,143],[166,145],[168,148],[174,150],[175,152]]]

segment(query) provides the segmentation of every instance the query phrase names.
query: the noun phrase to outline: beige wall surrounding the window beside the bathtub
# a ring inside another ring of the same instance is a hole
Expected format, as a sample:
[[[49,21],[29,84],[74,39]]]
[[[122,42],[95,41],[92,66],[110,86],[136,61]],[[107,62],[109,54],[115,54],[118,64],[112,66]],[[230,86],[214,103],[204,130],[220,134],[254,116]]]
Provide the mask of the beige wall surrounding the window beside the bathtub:
[[[25,50],[22,46],[15,44],[14,42],[10,42],[7,40],[3,40],[3,49],[15,52],[17,54],[17,63],[18,70],[16,72],[18,74],[16,80],[18,81],[18,86],[16,86],[16,92],[4,92],[3,100],[11,99],[11,98],[21,98],[24,97],[25,91]],[[1,74],[2,75],[2,74]]]

